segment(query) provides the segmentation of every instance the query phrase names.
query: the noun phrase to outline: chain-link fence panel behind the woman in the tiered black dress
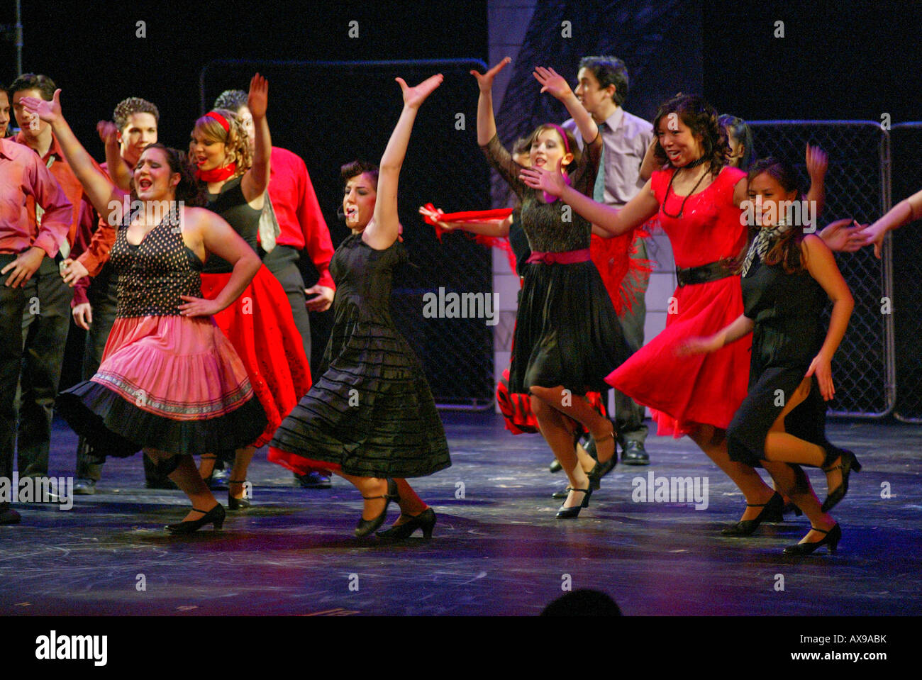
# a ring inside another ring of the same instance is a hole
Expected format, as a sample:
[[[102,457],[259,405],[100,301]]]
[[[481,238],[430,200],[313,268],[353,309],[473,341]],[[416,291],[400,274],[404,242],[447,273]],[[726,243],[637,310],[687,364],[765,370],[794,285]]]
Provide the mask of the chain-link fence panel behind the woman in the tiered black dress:
[[[453,316],[450,305],[438,309],[441,318],[426,318],[424,296],[434,293],[450,301],[453,293],[480,294],[485,301],[492,299],[491,253],[456,236],[440,243],[418,208],[427,203],[445,212],[490,207],[489,170],[477,146],[478,88],[468,73],[473,68],[483,71],[485,64],[472,59],[220,60],[207,64],[200,74],[202,111],[221,91],[247,88],[254,72],[266,76],[273,145],[290,149],[306,162],[334,246],[349,234],[337,217],[342,205],[339,167],[355,158],[373,163],[381,158],[402,108],[394,78],[415,85],[443,74],[442,86],[420,109],[400,173],[398,208],[411,264],[396,273],[392,312],[420,358],[435,401],[455,408],[493,404],[492,327],[483,315]],[[317,319],[312,315],[312,325]],[[315,344],[322,350],[325,338],[321,340]]]

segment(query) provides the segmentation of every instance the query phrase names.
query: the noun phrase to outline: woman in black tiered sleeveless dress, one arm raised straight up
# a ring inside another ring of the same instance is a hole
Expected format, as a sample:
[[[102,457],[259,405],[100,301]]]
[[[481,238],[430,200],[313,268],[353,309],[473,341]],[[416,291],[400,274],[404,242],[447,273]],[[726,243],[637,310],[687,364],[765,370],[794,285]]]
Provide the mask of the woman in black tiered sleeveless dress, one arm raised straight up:
[[[442,421],[422,368],[390,315],[392,273],[407,259],[397,240],[397,181],[420,105],[442,83],[431,76],[415,88],[397,78],[404,108],[380,169],[365,163],[343,168],[343,212],[352,234],[330,263],[337,283],[335,321],[322,376],[282,421],[270,446],[327,468],[365,499],[357,536],[379,528],[388,503],[400,518],[385,538],[417,529],[431,536],[435,513],[407,482],[451,464]]]

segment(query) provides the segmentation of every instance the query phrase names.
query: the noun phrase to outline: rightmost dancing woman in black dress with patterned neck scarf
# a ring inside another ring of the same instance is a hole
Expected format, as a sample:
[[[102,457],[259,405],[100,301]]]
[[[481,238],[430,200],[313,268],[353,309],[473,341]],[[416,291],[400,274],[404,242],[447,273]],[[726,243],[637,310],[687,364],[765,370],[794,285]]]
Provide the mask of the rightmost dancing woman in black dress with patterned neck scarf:
[[[826,440],[824,401],[835,393],[831,362],[854,301],[823,240],[786,218],[786,205],[799,200],[794,170],[774,158],[756,161],[749,196],[761,229],[740,272],[744,312],[714,335],[689,340],[682,351],[715,351],[752,333],[749,394],[727,428],[730,458],[761,464],[810,519],[810,533],[787,554],[808,555],[821,545],[834,553],[842,531],[828,512],[845,497],[850,472],[861,466],[854,453]],[[833,312],[824,331],[827,296]],[[798,463],[826,473],[822,506]]]

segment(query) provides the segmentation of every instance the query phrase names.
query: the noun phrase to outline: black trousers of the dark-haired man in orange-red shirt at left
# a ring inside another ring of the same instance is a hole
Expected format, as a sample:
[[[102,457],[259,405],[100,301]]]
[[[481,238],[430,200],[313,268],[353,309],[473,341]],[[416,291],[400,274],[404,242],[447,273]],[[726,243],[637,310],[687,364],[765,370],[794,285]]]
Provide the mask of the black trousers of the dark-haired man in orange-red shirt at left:
[[[18,389],[18,469],[20,476],[48,475],[54,398],[57,396],[73,291],[58,264],[41,260],[23,289],[20,312],[22,372]]]

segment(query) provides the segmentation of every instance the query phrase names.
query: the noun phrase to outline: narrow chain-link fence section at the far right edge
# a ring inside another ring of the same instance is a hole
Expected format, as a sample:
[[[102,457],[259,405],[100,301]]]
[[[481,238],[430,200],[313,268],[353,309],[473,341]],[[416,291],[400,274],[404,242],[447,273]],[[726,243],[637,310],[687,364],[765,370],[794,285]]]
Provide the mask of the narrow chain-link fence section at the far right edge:
[[[922,187],[922,123],[893,125],[892,204]],[[893,330],[896,345],[896,409],[893,415],[922,423],[922,224],[915,222],[891,234]]]

